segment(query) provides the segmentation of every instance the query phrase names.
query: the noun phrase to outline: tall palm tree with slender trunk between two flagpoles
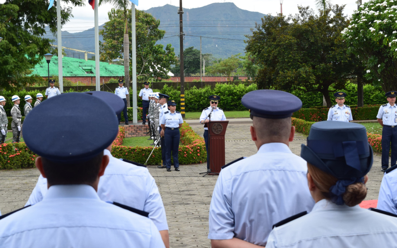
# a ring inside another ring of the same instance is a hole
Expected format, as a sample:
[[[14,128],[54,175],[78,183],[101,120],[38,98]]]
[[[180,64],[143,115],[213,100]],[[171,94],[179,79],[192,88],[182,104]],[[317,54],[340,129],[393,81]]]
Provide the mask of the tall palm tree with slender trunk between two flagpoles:
[[[128,28],[127,28],[127,10],[129,8],[129,0],[99,0],[98,6],[102,3],[113,4],[114,8],[123,10],[124,12],[124,39],[123,39],[123,54],[124,54],[124,81],[125,87],[129,90],[129,37],[128,37]],[[127,107],[129,107],[129,97],[127,97]]]

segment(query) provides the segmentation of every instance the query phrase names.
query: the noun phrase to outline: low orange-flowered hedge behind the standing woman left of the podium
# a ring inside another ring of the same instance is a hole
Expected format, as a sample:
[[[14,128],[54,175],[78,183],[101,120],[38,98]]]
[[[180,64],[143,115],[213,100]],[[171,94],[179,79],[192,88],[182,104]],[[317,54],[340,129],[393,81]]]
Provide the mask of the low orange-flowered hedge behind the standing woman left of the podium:
[[[207,153],[204,138],[198,136],[185,121],[179,131],[181,132],[181,142],[183,144],[179,146],[179,163],[193,164],[205,162],[207,160]],[[113,146],[112,155],[115,158],[125,158],[144,164],[152,150],[153,147],[151,146]],[[147,164],[160,165],[161,162],[161,149],[156,147]]]

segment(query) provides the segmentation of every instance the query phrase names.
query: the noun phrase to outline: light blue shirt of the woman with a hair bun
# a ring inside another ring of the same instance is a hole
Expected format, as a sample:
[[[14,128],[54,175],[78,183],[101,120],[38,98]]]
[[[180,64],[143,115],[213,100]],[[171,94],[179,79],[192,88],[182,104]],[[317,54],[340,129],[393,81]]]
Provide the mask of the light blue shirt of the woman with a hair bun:
[[[275,227],[266,248],[397,247],[396,235],[396,217],[323,199],[307,215]]]

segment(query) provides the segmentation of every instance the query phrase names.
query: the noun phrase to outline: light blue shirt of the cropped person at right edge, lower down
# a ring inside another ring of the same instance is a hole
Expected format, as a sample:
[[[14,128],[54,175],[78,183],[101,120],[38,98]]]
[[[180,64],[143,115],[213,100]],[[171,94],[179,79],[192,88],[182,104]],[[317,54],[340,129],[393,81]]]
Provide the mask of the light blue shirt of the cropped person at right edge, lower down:
[[[384,174],[376,208],[397,214],[397,169]]]

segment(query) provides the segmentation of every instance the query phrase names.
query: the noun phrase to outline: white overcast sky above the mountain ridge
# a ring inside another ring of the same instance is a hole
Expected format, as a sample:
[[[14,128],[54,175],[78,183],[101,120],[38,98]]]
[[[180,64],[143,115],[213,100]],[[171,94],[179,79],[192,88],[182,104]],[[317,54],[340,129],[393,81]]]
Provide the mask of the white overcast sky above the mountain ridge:
[[[0,0],[0,3],[4,3],[5,0]],[[73,7],[74,17],[70,19],[62,31],[69,31],[70,33],[80,32],[94,27],[94,10],[86,1],[86,6],[84,7]],[[280,0],[183,0],[183,8],[197,8],[212,4],[214,2],[233,2],[237,7],[243,10],[255,11],[264,14],[272,14],[280,12]],[[357,10],[357,4],[355,0],[332,0],[333,4],[346,4],[345,14],[351,15],[354,10]],[[368,0],[363,0],[368,2]],[[165,4],[171,4],[174,6],[179,6],[179,0],[139,0],[139,10],[147,10],[152,7],[164,6]],[[314,0],[283,0],[283,13],[285,15],[297,13],[297,6],[310,6],[311,8],[316,8]],[[55,8],[55,7],[53,7]],[[111,4],[105,4],[99,7],[99,25],[102,25],[108,20],[108,11],[112,8]],[[175,15],[176,7],[175,7]]]

